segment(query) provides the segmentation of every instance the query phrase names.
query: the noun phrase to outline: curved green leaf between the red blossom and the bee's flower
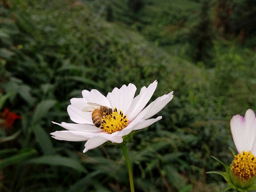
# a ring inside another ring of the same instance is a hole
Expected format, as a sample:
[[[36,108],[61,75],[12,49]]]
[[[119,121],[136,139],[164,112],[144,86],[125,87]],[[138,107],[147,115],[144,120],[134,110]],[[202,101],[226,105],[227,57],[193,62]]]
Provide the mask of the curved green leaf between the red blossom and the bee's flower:
[[[47,112],[55,105],[56,101],[49,99],[44,100],[38,103],[36,106],[35,113],[32,117],[31,124],[37,123],[41,118],[45,117],[47,115]]]

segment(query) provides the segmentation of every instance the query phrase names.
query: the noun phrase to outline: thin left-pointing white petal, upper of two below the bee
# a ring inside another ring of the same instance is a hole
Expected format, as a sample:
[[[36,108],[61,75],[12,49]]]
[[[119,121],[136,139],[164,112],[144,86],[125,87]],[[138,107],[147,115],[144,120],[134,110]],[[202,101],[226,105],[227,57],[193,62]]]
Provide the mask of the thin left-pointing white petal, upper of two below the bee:
[[[69,130],[69,131],[84,131],[84,132],[89,132],[89,133],[100,133],[103,132],[101,129],[94,125],[89,125],[89,124],[75,124],[75,123],[65,123],[61,122],[56,123],[52,122],[53,124],[57,124],[62,126],[63,128]]]

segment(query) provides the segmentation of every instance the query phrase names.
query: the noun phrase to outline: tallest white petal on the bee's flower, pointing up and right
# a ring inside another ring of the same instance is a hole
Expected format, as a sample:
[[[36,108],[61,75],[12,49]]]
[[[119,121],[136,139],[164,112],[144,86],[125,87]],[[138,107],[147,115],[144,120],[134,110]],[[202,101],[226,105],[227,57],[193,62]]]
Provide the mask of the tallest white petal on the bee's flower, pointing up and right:
[[[140,93],[133,99],[129,111],[126,113],[127,118],[132,120],[135,118],[143,108],[147,105],[148,101],[151,99],[153,93],[156,90],[157,81],[151,83],[148,88],[142,87]]]

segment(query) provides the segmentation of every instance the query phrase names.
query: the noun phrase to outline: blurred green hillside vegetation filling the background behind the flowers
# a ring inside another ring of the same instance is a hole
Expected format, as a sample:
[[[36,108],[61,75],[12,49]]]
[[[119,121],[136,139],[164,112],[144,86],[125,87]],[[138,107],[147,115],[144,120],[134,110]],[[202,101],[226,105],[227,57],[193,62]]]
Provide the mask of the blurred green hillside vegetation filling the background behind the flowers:
[[[256,110],[255,30],[249,23],[237,25],[242,18],[251,22],[246,16],[256,14],[255,5],[231,0],[0,3],[2,191],[129,191],[119,148],[83,154],[84,142],[50,137],[61,130],[51,121],[71,122],[69,100],[82,97],[84,89],[107,94],[129,83],[140,89],[155,79],[153,99],[172,90],[174,99],[159,113],[161,121],[129,143],[135,188],[225,189],[221,177],[205,172],[222,170],[210,155],[232,161],[231,117]],[[243,14],[247,9],[250,14]],[[21,119],[14,116],[10,125],[5,109]]]

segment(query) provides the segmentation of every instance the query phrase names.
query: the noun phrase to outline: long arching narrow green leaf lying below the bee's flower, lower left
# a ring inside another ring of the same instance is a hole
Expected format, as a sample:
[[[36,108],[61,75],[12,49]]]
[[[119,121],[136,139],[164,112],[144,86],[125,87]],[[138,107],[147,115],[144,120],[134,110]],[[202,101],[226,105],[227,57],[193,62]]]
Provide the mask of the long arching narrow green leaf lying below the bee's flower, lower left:
[[[87,170],[84,166],[76,159],[72,159],[69,157],[62,157],[59,155],[45,155],[42,157],[36,157],[27,161],[27,163],[35,163],[35,164],[47,164],[47,165],[57,165],[57,166],[67,166],[73,168],[78,171],[82,171],[87,173]]]

